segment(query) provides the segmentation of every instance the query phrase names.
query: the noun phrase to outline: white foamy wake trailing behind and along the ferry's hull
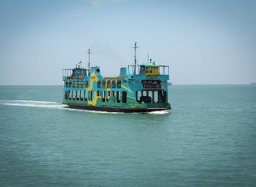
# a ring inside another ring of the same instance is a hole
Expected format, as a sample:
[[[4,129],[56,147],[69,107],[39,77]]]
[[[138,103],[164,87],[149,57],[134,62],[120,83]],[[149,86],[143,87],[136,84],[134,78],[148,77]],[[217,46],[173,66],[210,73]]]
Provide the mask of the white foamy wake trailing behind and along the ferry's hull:
[[[49,109],[59,109],[59,110],[68,110],[68,111],[82,111],[82,112],[100,113],[100,114],[125,114],[123,112],[89,111],[89,110],[71,109],[67,105],[62,105],[61,103],[57,103],[53,101],[40,101],[40,100],[0,100],[0,105],[38,107],[38,108],[49,108]],[[143,114],[153,114],[153,115],[165,115],[169,113],[170,111],[143,112]],[[131,114],[141,114],[141,113],[136,112]]]

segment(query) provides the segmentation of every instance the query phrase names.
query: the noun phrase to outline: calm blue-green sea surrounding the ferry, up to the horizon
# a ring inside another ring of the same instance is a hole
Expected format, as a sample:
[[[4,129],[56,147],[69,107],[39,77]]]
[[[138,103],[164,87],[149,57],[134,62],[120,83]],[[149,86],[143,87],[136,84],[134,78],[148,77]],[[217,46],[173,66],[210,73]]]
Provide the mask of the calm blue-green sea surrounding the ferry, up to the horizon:
[[[172,86],[172,110],[148,114],[61,99],[0,87],[0,186],[256,185],[256,86]]]

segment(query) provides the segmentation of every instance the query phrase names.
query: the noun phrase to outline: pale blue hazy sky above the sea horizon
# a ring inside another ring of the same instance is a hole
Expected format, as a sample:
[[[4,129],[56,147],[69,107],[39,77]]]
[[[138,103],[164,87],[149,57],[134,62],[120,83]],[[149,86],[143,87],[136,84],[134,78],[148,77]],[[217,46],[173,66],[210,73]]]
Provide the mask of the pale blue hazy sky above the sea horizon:
[[[0,0],[0,84],[61,84],[80,60],[153,59],[176,84],[256,82],[256,1]]]

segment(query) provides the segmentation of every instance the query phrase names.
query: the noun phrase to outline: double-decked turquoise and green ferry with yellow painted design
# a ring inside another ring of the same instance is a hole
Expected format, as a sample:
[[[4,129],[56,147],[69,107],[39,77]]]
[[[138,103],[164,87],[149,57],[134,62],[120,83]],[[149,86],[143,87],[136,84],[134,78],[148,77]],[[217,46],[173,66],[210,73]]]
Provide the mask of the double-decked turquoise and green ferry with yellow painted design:
[[[63,69],[63,104],[73,109],[109,112],[148,112],[170,110],[168,103],[169,66],[150,61],[120,68],[117,77],[102,77],[98,66],[88,69],[81,62],[76,68]]]

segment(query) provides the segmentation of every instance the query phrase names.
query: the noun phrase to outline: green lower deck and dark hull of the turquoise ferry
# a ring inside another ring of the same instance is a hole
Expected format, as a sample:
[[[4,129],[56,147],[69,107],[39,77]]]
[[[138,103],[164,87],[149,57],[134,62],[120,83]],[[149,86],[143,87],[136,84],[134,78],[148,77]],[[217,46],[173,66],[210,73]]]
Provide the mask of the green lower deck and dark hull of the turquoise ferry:
[[[137,91],[128,95],[126,91],[67,90],[63,104],[74,109],[113,112],[147,112],[171,109],[166,91]]]

